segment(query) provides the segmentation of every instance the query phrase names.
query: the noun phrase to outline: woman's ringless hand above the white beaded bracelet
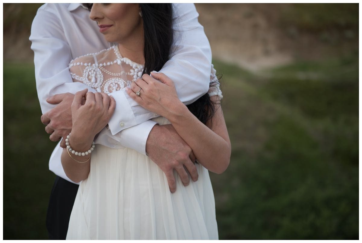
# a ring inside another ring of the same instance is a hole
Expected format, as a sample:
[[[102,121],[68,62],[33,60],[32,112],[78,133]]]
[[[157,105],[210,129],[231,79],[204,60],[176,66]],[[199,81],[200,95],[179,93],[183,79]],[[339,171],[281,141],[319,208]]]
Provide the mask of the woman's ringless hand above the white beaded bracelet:
[[[88,89],[77,92],[71,105],[71,142],[79,144],[80,148],[92,143],[94,136],[107,125],[115,109],[112,96],[87,91]]]

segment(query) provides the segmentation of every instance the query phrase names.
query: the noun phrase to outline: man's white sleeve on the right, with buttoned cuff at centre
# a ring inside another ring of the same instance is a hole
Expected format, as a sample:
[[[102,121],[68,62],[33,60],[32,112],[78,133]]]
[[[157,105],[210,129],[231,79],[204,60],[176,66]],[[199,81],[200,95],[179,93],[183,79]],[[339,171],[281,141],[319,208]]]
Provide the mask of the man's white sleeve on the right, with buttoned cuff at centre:
[[[159,71],[175,84],[178,98],[186,105],[209,90],[211,48],[194,4],[173,4],[173,56]],[[109,124],[112,134],[157,116],[136,103],[126,91],[112,93],[119,102]]]

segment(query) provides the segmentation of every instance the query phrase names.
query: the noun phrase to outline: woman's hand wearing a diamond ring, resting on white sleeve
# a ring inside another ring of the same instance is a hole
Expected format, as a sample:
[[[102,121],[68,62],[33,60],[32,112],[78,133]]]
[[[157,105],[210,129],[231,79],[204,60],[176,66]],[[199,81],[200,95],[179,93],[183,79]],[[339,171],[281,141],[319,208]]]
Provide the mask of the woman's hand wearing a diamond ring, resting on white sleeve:
[[[126,89],[127,94],[143,108],[168,118],[177,113],[182,102],[170,78],[163,73],[151,72],[151,75],[143,74],[142,79],[132,82],[131,88]]]

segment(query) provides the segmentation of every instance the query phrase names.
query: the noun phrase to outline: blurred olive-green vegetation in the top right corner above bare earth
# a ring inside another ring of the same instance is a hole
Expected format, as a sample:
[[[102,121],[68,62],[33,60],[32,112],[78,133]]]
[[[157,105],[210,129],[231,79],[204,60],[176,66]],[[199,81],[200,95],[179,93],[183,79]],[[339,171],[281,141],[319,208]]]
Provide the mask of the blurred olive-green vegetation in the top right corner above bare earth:
[[[329,44],[358,40],[358,4],[292,4],[281,11],[279,24],[291,38],[302,32]]]

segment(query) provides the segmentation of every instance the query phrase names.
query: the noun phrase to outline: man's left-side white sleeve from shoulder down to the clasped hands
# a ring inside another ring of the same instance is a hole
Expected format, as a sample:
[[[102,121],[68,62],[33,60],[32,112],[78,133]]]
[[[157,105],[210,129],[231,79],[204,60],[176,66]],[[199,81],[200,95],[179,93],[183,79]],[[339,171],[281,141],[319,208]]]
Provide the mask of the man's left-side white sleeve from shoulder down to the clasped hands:
[[[83,83],[72,82],[68,70],[72,60],[71,49],[55,14],[39,9],[31,25],[29,39],[34,51],[35,81],[42,113],[55,107],[46,102],[48,97],[66,92],[75,94],[88,88]]]

